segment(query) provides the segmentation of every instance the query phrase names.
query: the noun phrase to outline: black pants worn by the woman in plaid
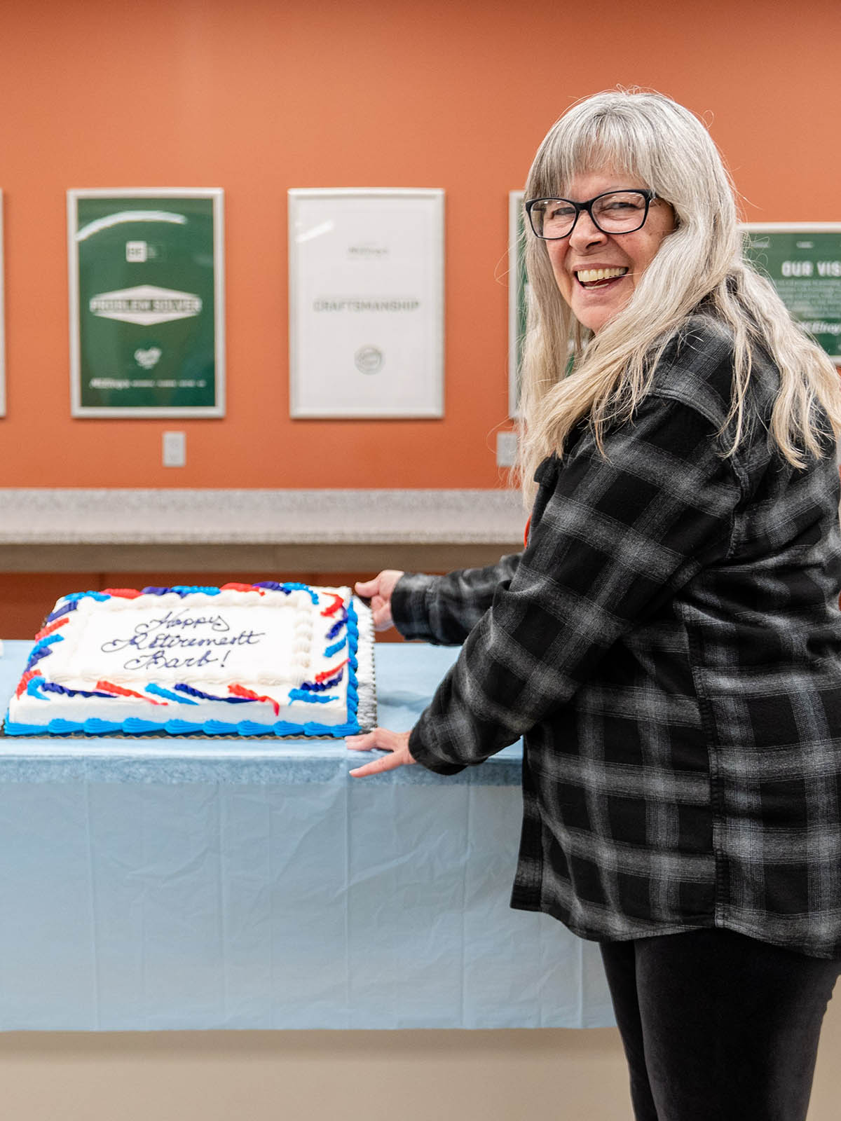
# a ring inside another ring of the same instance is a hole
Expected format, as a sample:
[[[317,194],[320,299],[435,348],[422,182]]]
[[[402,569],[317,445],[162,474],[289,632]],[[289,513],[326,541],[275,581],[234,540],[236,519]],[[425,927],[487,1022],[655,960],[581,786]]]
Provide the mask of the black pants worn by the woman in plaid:
[[[804,1121],[841,961],[718,929],[600,948],[637,1121]]]

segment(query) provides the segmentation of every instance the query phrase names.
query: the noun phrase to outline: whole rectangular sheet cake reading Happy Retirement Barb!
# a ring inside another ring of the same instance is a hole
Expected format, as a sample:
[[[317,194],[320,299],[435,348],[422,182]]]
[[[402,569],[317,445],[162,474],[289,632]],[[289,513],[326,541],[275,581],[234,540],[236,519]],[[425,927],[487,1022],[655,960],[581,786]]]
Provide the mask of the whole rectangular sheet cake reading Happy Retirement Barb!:
[[[375,720],[370,610],[266,581],[63,596],[6,732],[342,736]]]

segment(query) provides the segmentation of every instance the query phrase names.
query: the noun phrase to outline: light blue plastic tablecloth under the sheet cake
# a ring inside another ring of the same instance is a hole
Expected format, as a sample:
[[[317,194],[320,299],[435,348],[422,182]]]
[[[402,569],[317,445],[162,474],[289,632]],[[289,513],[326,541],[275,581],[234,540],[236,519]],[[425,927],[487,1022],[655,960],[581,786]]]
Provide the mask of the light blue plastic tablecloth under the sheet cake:
[[[378,646],[380,723],[410,728],[456,654]],[[0,1029],[612,1023],[595,947],[508,908],[518,748],[454,778],[349,778],[361,758],[1,739]]]

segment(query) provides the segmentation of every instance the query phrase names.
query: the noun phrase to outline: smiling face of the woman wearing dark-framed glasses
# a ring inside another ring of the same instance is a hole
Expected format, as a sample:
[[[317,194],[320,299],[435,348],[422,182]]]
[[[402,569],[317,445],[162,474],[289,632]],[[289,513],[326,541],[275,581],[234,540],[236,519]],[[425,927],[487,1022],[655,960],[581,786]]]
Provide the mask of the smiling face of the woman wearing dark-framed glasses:
[[[575,202],[607,191],[643,188],[647,184],[611,170],[576,175],[566,192]],[[547,241],[555,282],[583,326],[598,332],[626,306],[660,242],[675,228],[668,203],[655,198],[645,225],[632,233],[602,233],[582,211],[569,238]]]

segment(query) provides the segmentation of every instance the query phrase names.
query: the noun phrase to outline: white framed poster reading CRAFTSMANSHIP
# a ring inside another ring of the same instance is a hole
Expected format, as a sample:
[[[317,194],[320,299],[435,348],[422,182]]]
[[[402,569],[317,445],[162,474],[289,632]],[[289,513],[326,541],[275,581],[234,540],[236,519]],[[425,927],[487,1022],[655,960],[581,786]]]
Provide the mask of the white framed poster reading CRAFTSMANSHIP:
[[[444,413],[444,192],[292,189],[289,411]]]

